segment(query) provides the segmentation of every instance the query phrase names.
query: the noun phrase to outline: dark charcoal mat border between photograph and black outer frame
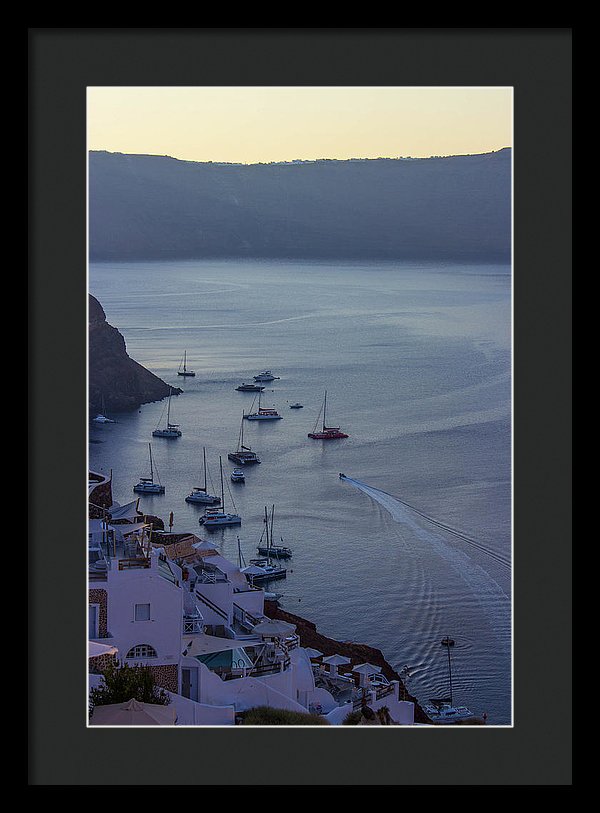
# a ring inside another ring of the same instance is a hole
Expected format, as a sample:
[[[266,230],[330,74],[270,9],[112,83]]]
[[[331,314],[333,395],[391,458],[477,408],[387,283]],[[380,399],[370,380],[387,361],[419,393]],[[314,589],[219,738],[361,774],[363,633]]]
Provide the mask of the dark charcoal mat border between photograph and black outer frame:
[[[572,29],[30,28],[28,39],[29,784],[571,784]],[[89,85],[514,88],[512,728],[85,727]]]

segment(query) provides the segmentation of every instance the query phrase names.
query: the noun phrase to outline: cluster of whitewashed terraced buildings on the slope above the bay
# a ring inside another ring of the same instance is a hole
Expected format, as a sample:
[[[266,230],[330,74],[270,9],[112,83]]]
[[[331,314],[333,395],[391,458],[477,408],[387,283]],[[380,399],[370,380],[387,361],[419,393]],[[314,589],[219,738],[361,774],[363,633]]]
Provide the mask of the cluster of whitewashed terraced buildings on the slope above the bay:
[[[178,725],[232,725],[237,712],[265,705],[338,725],[363,699],[413,723],[398,681],[368,664],[355,678],[311,660],[295,626],[266,618],[264,591],[209,543],[191,534],[156,542],[137,513],[118,513],[90,520],[89,638],[116,648],[124,663],[149,666]]]

